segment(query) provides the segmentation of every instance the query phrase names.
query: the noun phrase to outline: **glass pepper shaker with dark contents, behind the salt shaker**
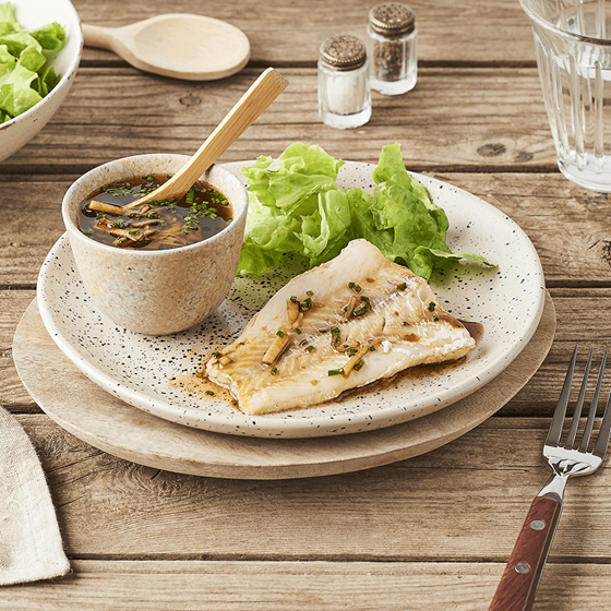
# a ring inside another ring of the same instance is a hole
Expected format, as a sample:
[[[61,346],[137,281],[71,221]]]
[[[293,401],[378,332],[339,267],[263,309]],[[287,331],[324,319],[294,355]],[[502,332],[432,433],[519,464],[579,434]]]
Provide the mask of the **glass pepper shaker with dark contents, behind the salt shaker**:
[[[400,95],[416,86],[416,15],[406,4],[385,2],[369,12],[367,24],[371,87]]]

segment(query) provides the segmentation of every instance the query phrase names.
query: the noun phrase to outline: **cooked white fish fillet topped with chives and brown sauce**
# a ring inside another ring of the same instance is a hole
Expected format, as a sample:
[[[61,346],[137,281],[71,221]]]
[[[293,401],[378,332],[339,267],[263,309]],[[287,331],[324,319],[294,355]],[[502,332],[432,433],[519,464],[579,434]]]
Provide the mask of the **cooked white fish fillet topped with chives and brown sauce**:
[[[215,352],[206,374],[242,411],[261,415],[314,406],[474,347],[427,280],[359,239],[292,278]]]

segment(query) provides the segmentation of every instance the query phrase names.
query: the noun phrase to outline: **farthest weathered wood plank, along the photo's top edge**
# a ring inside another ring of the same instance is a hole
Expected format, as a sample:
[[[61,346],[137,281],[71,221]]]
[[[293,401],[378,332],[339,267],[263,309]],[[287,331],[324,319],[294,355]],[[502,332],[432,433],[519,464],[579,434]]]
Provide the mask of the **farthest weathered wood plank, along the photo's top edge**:
[[[239,27],[249,37],[253,61],[313,63],[320,44],[330,36],[352,34],[364,40],[369,10],[374,3],[356,0],[346,10],[325,0],[308,3],[268,0],[264,5],[254,0],[211,0],[205,5],[175,0],[170,12],[205,14]],[[75,0],[74,5],[83,22],[109,26],[168,12],[167,3],[160,0],[145,4]],[[411,0],[409,5],[416,11],[418,52],[422,61],[535,61],[528,19],[517,2]],[[298,36],[287,35],[296,28]],[[84,58],[95,60],[108,55],[86,49]]]

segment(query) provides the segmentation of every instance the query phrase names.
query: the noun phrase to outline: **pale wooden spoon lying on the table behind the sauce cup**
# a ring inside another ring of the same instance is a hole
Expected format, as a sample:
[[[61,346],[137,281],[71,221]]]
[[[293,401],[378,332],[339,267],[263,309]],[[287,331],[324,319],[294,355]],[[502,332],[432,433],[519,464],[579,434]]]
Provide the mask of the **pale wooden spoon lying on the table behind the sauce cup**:
[[[203,15],[172,13],[123,27],[82,24],[85,45],[115,51],[133,67],[189,81],[224,79],[250,58],[241,29]]]

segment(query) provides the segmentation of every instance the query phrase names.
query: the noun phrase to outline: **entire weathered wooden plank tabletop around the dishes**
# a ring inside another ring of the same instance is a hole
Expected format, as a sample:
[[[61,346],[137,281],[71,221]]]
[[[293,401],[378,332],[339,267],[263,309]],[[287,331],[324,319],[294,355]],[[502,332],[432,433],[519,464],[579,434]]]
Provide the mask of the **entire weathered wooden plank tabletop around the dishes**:
[[[351,131],[320,121],[315,63],[326,37],[364,37],[371,4],[363,0],[74,4],[83,22],[97,25],[164,12],[221,19],[248,35],[252,58],[238,75],[194,83],[85,49],[58,113],[0,164],[0,405],[39,453],[72,564],[55,582],[0,589],[0,609],[488,609],[548,478],[541,447],[574,343],[606,347],[611,334],[611,202],[558,171],[517,0],[412,0],[418,85],[398,97],[374,93],[371,121]],[[243,481],[105,454],[44,414],[12,359],[38,269],[63,232],[63,193],[113,158],[193,153],[268,65],[290,86],[221,160],[277,156],[303,141],[374,163],[384,144],[399,142],[408,169],[483,197],[528,233],[556,309],[553,346],[494,417],[442,448],[385,467]],[[602,611],[610,596],[611,469],[603,466],[567,489],[535,608]]]

